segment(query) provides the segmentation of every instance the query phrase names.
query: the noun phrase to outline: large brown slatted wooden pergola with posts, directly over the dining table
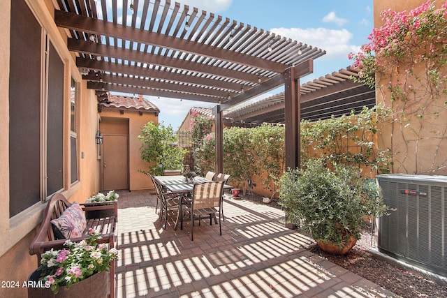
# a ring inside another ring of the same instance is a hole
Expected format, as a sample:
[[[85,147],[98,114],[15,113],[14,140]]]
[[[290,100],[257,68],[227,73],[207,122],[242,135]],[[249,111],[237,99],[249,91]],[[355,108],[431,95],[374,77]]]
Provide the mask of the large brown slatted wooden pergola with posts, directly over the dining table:
[[[57,3],[54,21],[99,101],[117,91],[216,104],[218,172],[222,112],[284,84],[286,167],[299,165],[300,77],[325,51],[170,0]]]

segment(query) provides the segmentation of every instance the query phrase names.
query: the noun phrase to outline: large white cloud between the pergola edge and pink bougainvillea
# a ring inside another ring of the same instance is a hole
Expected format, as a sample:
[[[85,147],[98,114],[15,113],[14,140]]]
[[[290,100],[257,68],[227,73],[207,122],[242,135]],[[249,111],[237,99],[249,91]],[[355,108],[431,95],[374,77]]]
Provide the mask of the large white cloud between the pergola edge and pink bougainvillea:
[[[322,27],[307,29],[273,28],[271,31],[325,50],[326,54],[320,59],[347,59],[350,52],[358,52],[360,50],[360,46],[349,43],[353,38],[353,34],[346,29],[334,30]]]

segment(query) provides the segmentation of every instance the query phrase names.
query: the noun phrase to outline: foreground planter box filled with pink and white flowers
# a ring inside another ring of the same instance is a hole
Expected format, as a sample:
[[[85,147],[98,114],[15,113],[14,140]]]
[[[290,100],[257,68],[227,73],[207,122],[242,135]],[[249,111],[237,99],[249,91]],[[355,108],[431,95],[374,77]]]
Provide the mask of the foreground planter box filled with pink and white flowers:
[[[98,234],[89,230],[79,243],[67,240],[64,248],[45,251],[41,266],[28,278],[40,285],[28,288],[28,297],[107,297],[110,265],[117,249],[97,244]]]

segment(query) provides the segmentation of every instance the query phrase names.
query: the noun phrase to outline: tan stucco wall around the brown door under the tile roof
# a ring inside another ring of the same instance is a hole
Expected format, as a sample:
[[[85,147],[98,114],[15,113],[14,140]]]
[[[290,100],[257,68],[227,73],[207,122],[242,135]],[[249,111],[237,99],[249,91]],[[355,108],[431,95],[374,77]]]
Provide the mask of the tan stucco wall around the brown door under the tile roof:
[[[141,159],[140,147],[142,142],[138,139],[138,135],[140,135],[141,129],[147,122],[151,121],[158,124],[158,116],[154,112],[142,112],[140,114],[139,111],[124,110],[124,113],[121,113],[119,110],[111,108],[103,108],[100,116],[101,118],[129,119],[129,189],[130,191],[153,189],[149,177],[139,172],[139,170],[147,170],[149,165]],[[102,128],[101,131],[103,131]]]

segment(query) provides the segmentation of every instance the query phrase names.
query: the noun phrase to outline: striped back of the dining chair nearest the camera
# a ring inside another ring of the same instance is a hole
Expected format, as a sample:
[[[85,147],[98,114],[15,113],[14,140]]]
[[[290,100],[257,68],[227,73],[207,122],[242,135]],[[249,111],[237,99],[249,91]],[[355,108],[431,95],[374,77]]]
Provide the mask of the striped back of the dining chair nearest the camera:
[[[223,182],[203,182],[194,184],[192,209],[205,209],[220,206]]]

